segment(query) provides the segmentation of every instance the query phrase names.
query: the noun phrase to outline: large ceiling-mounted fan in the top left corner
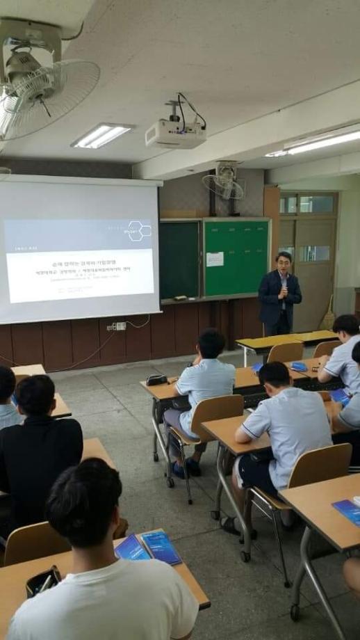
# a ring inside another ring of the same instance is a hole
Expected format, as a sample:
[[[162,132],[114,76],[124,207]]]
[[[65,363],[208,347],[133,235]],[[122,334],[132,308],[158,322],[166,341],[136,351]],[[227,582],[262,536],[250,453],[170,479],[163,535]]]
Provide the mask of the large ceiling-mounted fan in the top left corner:
[[[4,59],[3,49],[10,47]],[[48,51],[42,65],[34,50]],[[72,111],[95,88],[99,67],[61,60],[59,26],[0,19],[0,141],[39,131]]]

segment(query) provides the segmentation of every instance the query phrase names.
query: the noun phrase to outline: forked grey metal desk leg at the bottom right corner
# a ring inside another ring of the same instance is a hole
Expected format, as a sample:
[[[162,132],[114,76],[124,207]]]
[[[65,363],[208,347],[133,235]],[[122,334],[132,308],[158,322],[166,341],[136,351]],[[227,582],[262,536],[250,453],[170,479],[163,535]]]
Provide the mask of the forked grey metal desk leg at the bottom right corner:
[[[322,584],[316,574],[315,569],[311,564],[311,559],[309,556],[309,545],[311,538],[311,529],[310,527],[305,527],[304,534],[302,536],[302,541],[300,545],[300,557],[301,563],[299,568],[297,569],[297,574],[293,584],[293,605],[291,607],[291,618],[293,621],[297,621],[299,618],[299,602],[300,602],[300,586],[302,584],[302,580],[304,579],[305,573],[309,575],[313,586],[316,589],[316,593],[320,598],[320,602],[322,606],[325,608],[327,615],[329,616],[330,622],[332,623],[334,630],[336,632],[336,637],[340,640],[346,640],[343,630],[341,629],[341,625],[336,617],[335,611],[330,604],[327,595],[322,588]]]

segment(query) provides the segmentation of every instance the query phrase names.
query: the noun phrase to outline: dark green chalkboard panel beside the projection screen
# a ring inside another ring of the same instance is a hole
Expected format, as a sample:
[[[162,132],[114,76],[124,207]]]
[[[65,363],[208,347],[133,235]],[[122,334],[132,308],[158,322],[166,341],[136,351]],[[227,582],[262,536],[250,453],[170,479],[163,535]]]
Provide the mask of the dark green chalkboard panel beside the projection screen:
[[[161,221],[159,225],[160,296],[199,296],[199,221]]]

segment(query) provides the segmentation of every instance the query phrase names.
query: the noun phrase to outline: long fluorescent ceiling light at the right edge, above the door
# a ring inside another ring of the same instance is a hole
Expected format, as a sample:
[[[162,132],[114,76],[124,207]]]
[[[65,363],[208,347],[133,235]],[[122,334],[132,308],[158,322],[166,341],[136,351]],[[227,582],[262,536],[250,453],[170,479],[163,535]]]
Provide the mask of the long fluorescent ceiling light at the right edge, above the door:
[[[265,154],[265,158],[279,158],[288,154],[293,156],[306,151],[314,151],[324,147],[332,147],[332,145],[341,145],[342,143],[360,140],[359,123],[357,127],[358,129],[355,131],[354,125],[352,125],[352,127],[344,127],[337,131],[327,131],[317,136],[312,136],[311,138],[293,141],[293,143],[288,143],[284,149]]]

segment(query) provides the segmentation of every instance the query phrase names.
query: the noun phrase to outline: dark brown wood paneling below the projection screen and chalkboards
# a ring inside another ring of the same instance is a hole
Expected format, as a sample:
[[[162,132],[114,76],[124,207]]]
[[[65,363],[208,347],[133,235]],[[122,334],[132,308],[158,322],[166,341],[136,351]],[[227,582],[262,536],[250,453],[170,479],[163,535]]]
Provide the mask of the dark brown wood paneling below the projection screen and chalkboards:
[[[234,348],[237,337],[261,335],[256,298],[174,304],[163,307],[142,328],[109,333],[113,321],[130,320],[140,326],[146,316],[94,318],[0,326],[0,363],[41,362],[47,371],[84,369],[122,362],[168,358],[193,353],[199,331],[216,326]],[[101,349],[100,349],[101,347]]]

